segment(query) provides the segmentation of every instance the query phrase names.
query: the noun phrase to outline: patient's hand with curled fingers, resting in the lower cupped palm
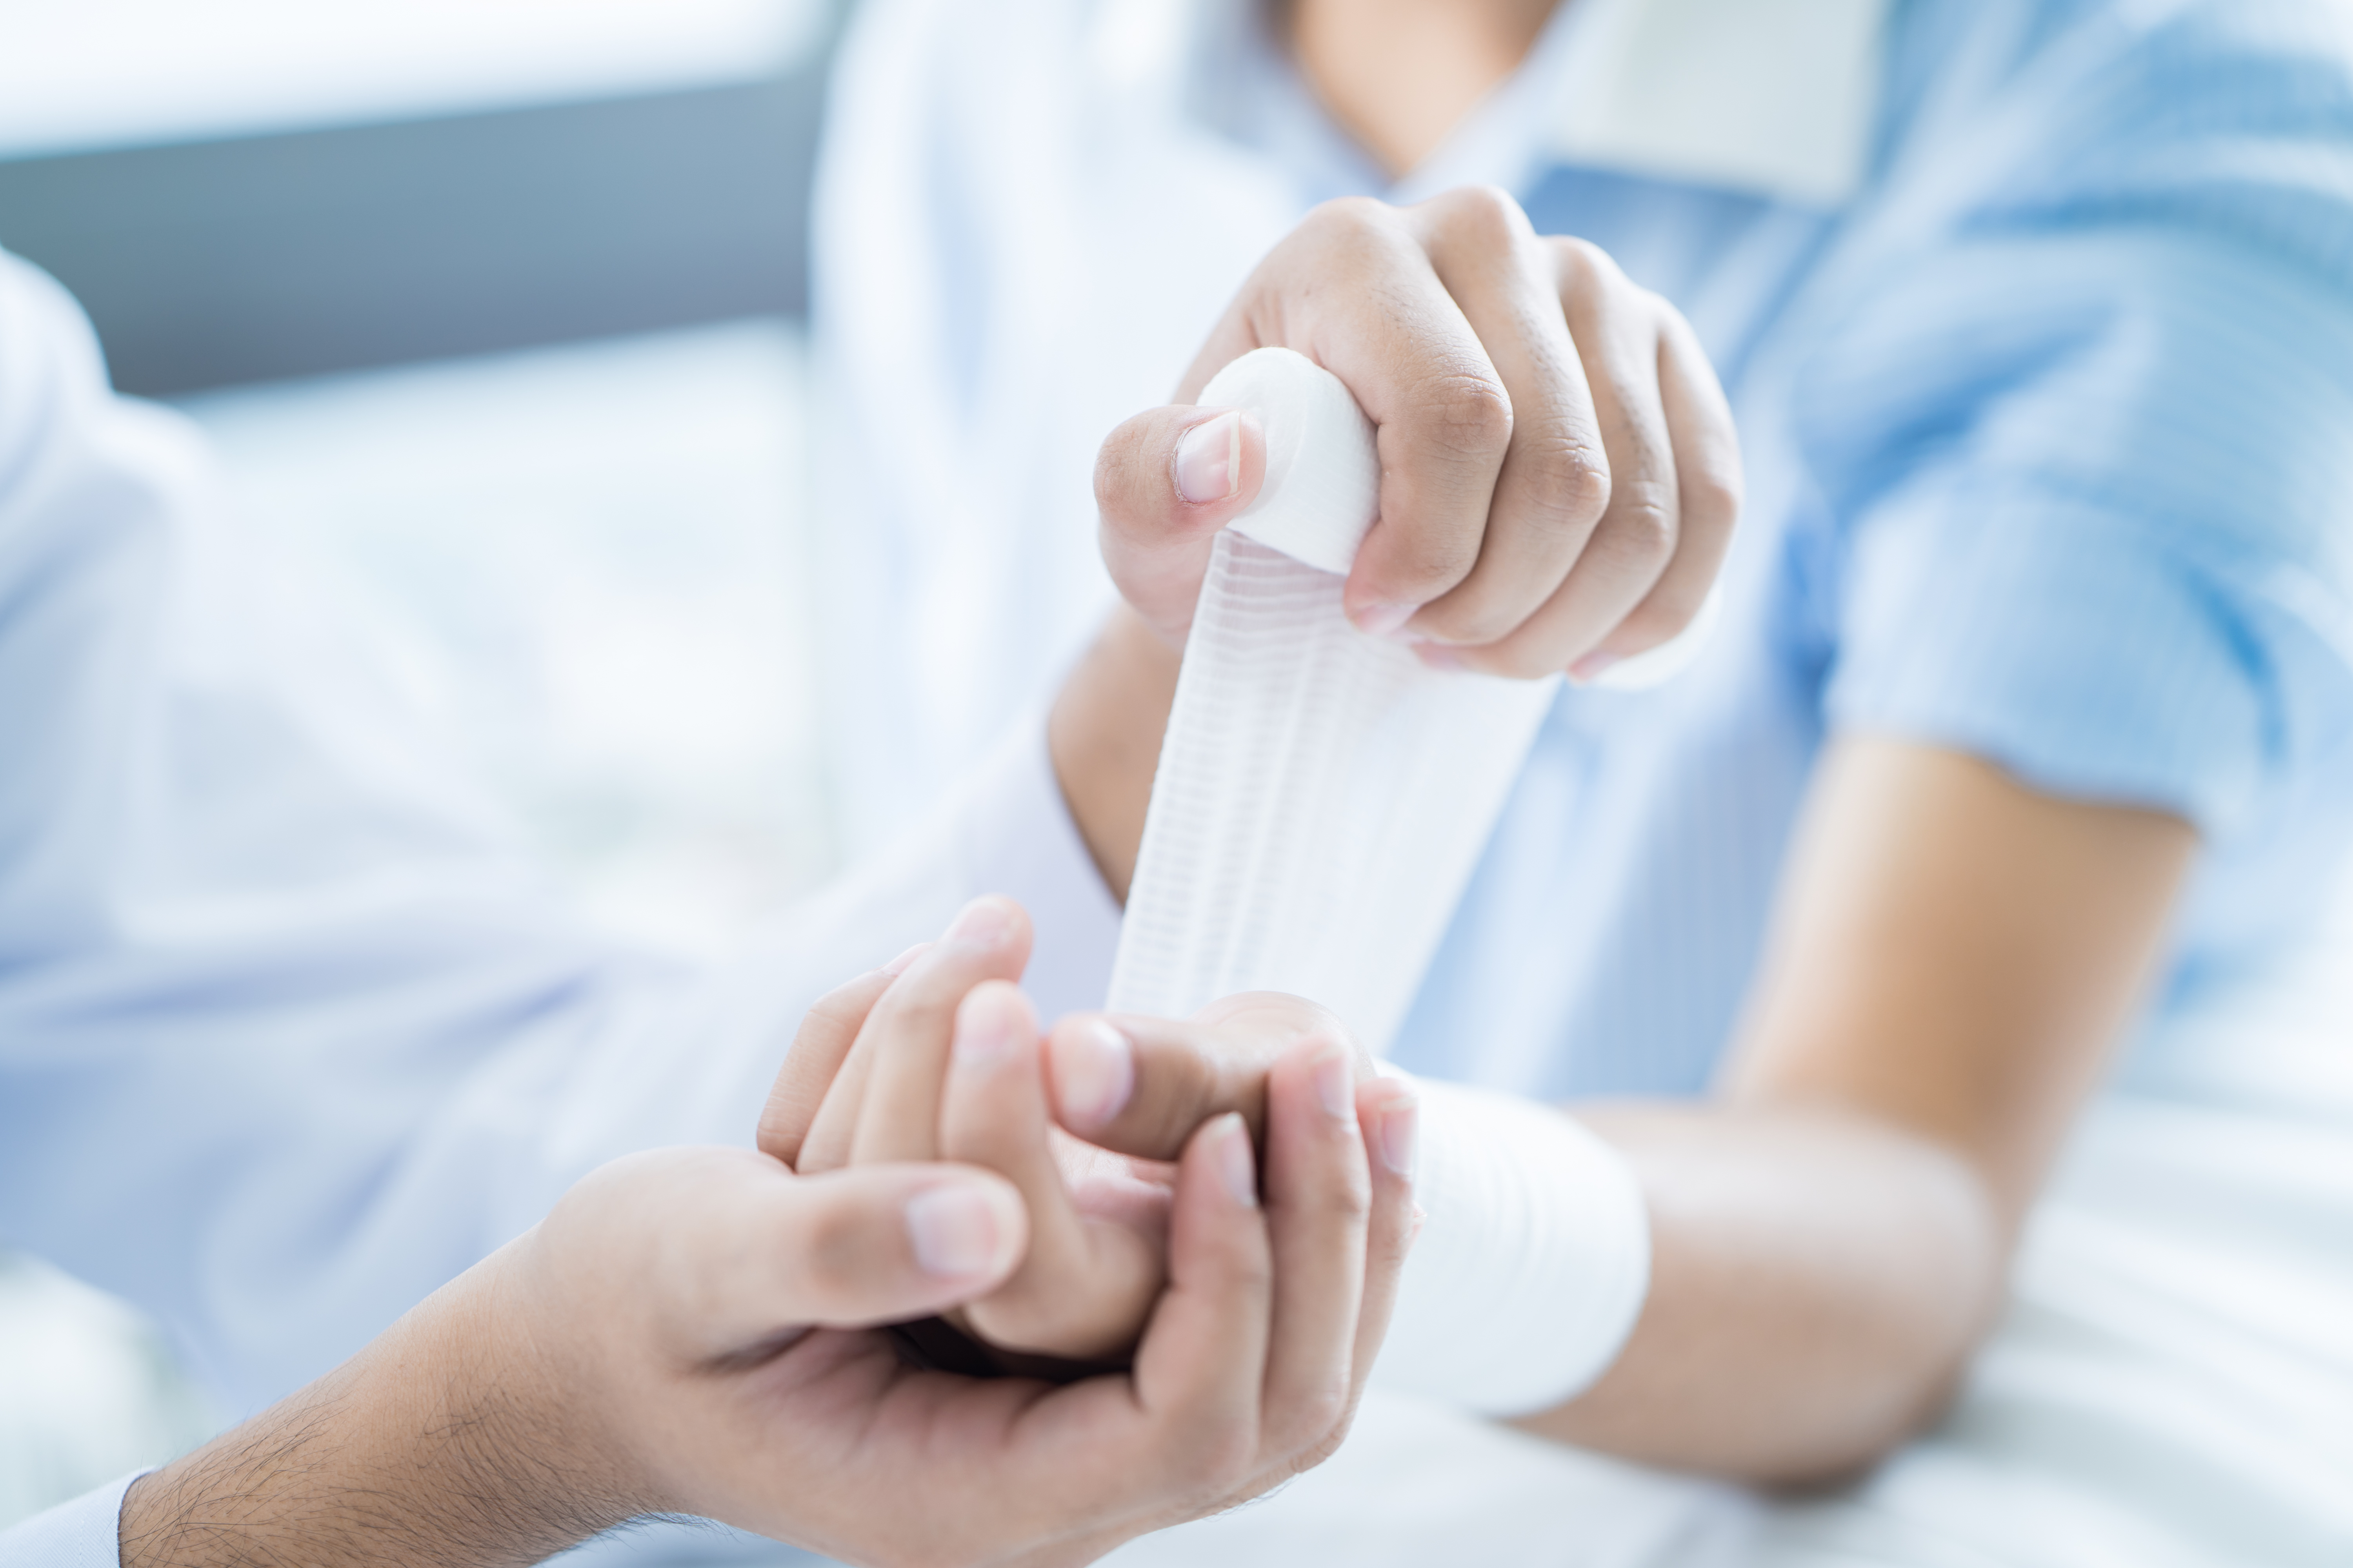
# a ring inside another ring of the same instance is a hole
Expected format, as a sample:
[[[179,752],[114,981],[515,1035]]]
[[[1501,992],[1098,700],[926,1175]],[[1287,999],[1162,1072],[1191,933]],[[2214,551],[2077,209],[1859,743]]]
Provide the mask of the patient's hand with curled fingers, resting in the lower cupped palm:
[[[1031,1246],[955,1321],[1007,1352],[1122,1359],[1167,1279],[1165,1161],[1228,1110],[1261,1135],[1268,1070],[1289,1051],[1311,1058],[1334,1114],[1353,1114],[1369,1063],[1327,1011],[1278,994],[1228,997],[1191,1023],[1073,1016],[1042,1037],[1012,985],[1026,959],[1026,917],[991,898],[896,973],[826,997],[793,1041],[760,1147],[802,1173],[927,1159],[1002,1173],[1028,1206]]]

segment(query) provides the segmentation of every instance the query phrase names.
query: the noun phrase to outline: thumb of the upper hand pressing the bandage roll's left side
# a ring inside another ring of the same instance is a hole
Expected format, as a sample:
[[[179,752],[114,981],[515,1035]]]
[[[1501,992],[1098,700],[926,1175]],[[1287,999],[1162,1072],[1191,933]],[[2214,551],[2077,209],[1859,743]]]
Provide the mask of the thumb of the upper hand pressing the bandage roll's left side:
[[[1172,644],[1193,625],[1209,541],[1266,477],[1266,430],[1249,409],[1146,409],[1104,440],[1094,503],[1104,564],[1144,621]]]

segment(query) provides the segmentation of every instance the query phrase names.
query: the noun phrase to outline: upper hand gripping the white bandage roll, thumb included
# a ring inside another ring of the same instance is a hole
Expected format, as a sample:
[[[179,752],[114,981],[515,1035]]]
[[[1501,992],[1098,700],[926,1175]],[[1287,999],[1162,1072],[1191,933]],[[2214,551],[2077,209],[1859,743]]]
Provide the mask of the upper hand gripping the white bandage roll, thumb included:
[[[1247,409],[1188,407],[1252,348],[1337,374],[1379,428],[1358,628],[1497,675],[1588,679],[1704,604],[1739,512],[1732,411],[1692,329],[1501,190],[1327,202],[1242,284],[1176,388],[1096,463],[1104,559],[1181,646],[1212,536],[1266,468]]]

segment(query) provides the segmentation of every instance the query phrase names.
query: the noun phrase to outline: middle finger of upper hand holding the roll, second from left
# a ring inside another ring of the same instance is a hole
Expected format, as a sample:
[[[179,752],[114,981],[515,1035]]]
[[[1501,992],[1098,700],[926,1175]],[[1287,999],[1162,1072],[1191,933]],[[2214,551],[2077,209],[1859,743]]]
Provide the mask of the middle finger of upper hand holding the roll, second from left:
[[[1553,256],[1520,205],[1501,190],[1452,190],[1412,216],[1426,219],[1431,266],[1511,397],[1478,564],[1405,628],[1475,646],[1518,630],[1569,576],[1609,505],[1609,458]]]

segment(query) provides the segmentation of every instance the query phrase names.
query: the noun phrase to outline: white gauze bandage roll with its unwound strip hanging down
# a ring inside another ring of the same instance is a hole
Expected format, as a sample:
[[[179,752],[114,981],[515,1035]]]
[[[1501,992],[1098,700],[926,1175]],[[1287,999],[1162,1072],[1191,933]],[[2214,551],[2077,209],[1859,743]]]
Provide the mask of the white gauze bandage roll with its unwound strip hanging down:
[[[1381,470],[1337,376],[1261,348],[1202,402],[1259,416],[1266,482],[1209,555],[1111,1009],[1186,1018],[1282,990],[1381,1053],[1555,682],[1431,670],[1348,623],[1341,583]]]

